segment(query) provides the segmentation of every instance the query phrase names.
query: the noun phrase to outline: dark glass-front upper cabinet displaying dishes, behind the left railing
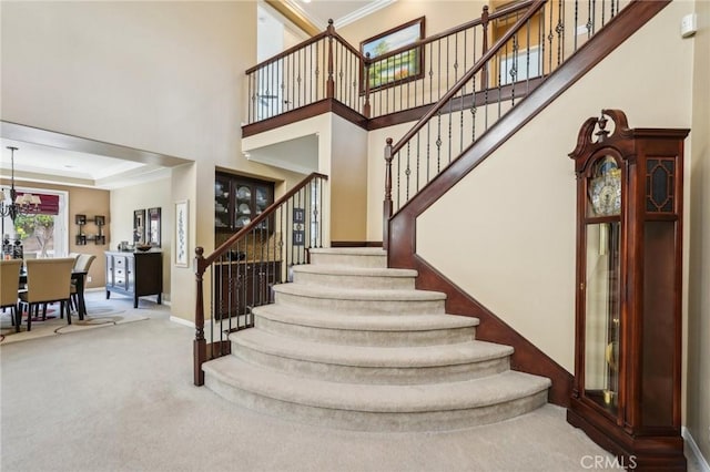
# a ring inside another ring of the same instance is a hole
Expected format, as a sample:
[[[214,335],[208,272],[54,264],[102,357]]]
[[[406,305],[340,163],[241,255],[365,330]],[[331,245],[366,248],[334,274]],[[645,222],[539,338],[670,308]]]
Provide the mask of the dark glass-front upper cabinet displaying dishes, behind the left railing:
[[[216,173],[214,178],[214,228],[237,232],[274,203],[272,182]],[[268,222],[262,223],[271,227]]]

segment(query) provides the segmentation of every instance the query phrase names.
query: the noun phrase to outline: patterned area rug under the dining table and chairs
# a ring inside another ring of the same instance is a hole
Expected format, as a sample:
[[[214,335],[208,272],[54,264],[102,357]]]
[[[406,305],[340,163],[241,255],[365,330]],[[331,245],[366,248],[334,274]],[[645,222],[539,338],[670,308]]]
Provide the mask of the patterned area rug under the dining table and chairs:
[[[39,319],[32,318],[31,331],[27,330],[27,318],[23,317],[21,330],[16,332],[10,319],[10,310],[8,310],[0,316],[0,343],[7,345],[48,336],[69,335],[87,329],[105,328],[148,319],[140,314],[128,312],[121,308],[116,309],[111,304],[94,304],[88,307],[87,311],[83,320],[80,320],[77,315],[72,315],[72,324],[68,325],[65,317],[63,319],[59,318],[59,306],[57,306],[55,308],[50,308],[48,318],[44,321],[41,320],[41,317]]]

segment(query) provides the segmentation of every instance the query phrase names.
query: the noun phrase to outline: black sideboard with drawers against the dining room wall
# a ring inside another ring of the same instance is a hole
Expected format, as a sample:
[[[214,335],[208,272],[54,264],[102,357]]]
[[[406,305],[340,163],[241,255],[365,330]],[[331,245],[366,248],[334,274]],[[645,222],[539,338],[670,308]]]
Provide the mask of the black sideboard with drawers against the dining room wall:
[[[163,254],[106,252],[106,298],[111,293],[133,297],[133,308],[138,308],[139,297],[158,295],[161,302],[163,293]]]

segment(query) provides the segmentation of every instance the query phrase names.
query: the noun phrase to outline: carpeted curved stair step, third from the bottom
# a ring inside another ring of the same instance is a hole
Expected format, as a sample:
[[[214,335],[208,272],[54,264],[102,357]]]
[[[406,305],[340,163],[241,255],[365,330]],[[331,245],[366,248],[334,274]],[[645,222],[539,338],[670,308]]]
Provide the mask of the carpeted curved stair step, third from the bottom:
[[[432,346],[475,339],[478,319],[452,315],[341,315],[264,305],[255,326],[274,335],[347,346]]]

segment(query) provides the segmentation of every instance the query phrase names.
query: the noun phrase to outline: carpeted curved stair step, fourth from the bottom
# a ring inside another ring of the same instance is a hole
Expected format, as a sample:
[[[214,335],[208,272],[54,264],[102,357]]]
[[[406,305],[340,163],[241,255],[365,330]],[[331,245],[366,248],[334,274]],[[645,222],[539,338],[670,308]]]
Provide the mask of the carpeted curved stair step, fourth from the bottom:
[[[276,304],[353,315],[443,314],[446,295],[427,290],[351,289],[302,284],[274,286]]]

